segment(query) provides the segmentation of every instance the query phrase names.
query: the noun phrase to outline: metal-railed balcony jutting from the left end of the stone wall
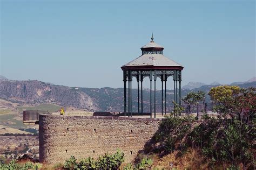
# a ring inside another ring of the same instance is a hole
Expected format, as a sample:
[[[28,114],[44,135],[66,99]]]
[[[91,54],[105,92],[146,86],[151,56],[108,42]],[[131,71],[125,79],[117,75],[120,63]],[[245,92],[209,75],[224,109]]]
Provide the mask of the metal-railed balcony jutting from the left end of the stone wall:
[[[23,111],[23,123],[36,123],[38,122],[39,114],[48,114],[48,110],[25,110]]]

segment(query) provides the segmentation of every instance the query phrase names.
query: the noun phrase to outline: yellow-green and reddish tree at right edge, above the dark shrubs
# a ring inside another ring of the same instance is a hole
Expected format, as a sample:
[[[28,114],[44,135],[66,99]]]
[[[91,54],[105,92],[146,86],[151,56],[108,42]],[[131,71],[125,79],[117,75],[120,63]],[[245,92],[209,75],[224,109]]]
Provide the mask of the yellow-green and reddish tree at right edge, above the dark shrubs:
[[[243,89],[238,86],[219,86],[211,88],[209,95],[216,104],[214,110],[221,113],[226,119],[239,118],[247,121],[255,117],[256,94],[255,88]]]

